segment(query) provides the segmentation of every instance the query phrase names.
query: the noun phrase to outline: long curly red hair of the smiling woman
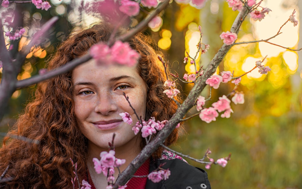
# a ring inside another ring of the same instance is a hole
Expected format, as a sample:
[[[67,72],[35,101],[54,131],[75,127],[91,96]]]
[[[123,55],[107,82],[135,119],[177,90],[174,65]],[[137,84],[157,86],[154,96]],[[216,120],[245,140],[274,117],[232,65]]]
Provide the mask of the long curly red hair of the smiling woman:
[[[58,68],[83,56],[100,41],[108,41],[112,30],[111,25],[97,24],[70,35],[58,47],[49,61],[48,69]],[[130,46],[140,54],[137,69],[147,85],[145,119],[155,117],[160,121],[169,120],[177,105],[162,93],[166,89],[163,86],[166,80],[164,67],[156,51],[146,41],[143,34],[128,40]],[[85,173],[87,138],[76,124],[71,74],[64,73],[39,83],[35,99],[27,105],[25,113],[9,132],[38,140],[38,144],[4,138],[0,149],[0,171],[9,165],[5,178],[11,177],[12,180],[0,183],[1,188],[70,189],[74,177],[70,158],[77,162],[78,172]],[[179,101],[178,98],[176,100]],[[175,129],[165,140],[165,145],[171,145],[177,137]],[[145,140],[142,141],[143,147],[146,144]],[[161,152],[162,148],[159,148],[153,157],[159,157]]]

